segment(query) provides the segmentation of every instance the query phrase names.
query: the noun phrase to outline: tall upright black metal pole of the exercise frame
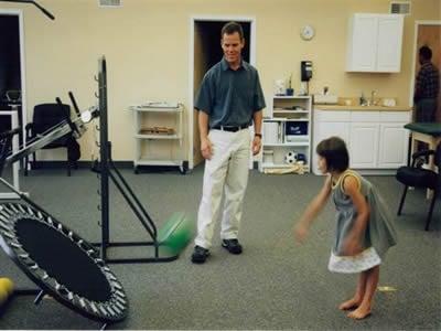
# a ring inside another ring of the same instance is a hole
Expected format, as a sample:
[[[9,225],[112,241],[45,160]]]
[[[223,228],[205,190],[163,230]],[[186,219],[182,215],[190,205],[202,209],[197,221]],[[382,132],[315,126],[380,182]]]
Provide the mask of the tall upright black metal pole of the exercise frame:
[[[99,58],[99,140],[100,140],[100,178],[101,178],[101,258],[107,260],[109,246],[109,167],[108,167],[108,132],[107,132],[107,74],[106,58]]]

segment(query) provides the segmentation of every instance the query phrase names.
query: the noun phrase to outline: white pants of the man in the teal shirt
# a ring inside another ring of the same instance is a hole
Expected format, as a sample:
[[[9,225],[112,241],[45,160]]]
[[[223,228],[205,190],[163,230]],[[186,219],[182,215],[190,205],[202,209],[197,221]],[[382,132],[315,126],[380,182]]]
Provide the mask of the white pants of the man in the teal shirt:
[[[220,238],[237,238],[250,157],[249,129],[237,132],[211,130],[208,138],[213,145],[213,154],[211,160],[205,160],[204,184],[197,214],[197,236],[194,241],[195,245],[207,249],[212,246],[223,194]]]

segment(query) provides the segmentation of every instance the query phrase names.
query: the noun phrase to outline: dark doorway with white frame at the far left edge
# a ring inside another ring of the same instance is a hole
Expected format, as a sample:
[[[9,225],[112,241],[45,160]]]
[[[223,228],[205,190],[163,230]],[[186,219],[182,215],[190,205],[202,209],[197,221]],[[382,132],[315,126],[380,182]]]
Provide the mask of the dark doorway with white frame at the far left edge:
[[[24,137],[26,107],[24,90],[23,14],[20,10],[0,9],[0,111],[17,110]],[[0,130],[11,128],[10,118],[2,116]]]

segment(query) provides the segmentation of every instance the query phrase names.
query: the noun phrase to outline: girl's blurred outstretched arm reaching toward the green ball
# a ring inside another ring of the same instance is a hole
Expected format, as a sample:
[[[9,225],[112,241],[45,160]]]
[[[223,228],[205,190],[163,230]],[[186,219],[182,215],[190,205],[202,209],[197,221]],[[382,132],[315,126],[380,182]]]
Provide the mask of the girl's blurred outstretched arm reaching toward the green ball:
[[[319,194],[311,201],[308,205],[303,215],[300,217],[300,221],[294,226],[294,237],[298,242],[302,243],[308,235],[308,231],[314,221],[314,218],[319,215],[319,213],[323,210],[326,204],[327,199],[330,197],[332,190],[331,185],[331,175],[327,175],[323,188],[320,190]]]

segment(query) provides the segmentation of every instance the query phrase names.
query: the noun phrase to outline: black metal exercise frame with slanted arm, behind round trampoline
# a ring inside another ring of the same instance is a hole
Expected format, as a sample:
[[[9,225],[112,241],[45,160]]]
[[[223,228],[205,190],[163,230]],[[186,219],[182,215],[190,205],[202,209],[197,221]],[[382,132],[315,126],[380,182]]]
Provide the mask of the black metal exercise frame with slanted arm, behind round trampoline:
[[[106,58],[101,56],[98,61],[98,99],[99,105],[98,109],[92,107],[89,113],[92,118],[99,117],[99,153],[100,160],[95,161],[93,170],[98,172],[100,175],[100,209],[101,209],[101,242],[94,243],[94,246],[100,247],[100,257],[103,260],[109,264],[132,264],[132,263],[162,263],[162,261],[172,261],[179,257],[179,254],[174,255],[160,255],[160,246],[161,242],[158,238],[158,228],[147,213],[146,209],[142,206],[141,202],[138,200],[129,184],[126,182],[121,173],[116,168],[112,158],[111,158],[111,142],[108,139],[108,121],[107,121],[107,71],[106,71]],[[76,132],[80,135],[82,128],[84,128],[85,121],[82,119],[82,115],[77,103],[72,93],[68,94],[71,102],[74,106],[75,113],[77,115],[74,120],[66,120],[57,126],[49,129],[37,139],[28,143],[28,146],[17,153],[11,154],[9,157],[3,156],[3,161],[0,158],[0,177],[1,171],[4,166],[11,164],[18,160],[21,160],[25,156],[43,148],[47,143],[63,137],[68,132]],[[60,98],[56,98],[58,104],[62,104]],[[11,138],[12,139],[12,138]],[[1,179],[1,178],[0,178]],[[109,220],[109,179],[116,185],[118,191],[121,193],[130,209],[133,211],[138,220],[141,222],[144,229],[151,237],[151,241],[146,242],[111,242],[110,241],[110,220]],[[29,197],[26,197],[21,192],[18,192],[13,189],[13,186],[4,183],[4,180],[1,179],[0,182],[3,182],[10,190],[19,194],[19,196],[25,202],[36,206]],[[123,258],[110,258],[108,257],[107,249],[110,247],[129,247],[129,246],[152,246],[154,248],[153,256],[150,257],[123,257]]]

